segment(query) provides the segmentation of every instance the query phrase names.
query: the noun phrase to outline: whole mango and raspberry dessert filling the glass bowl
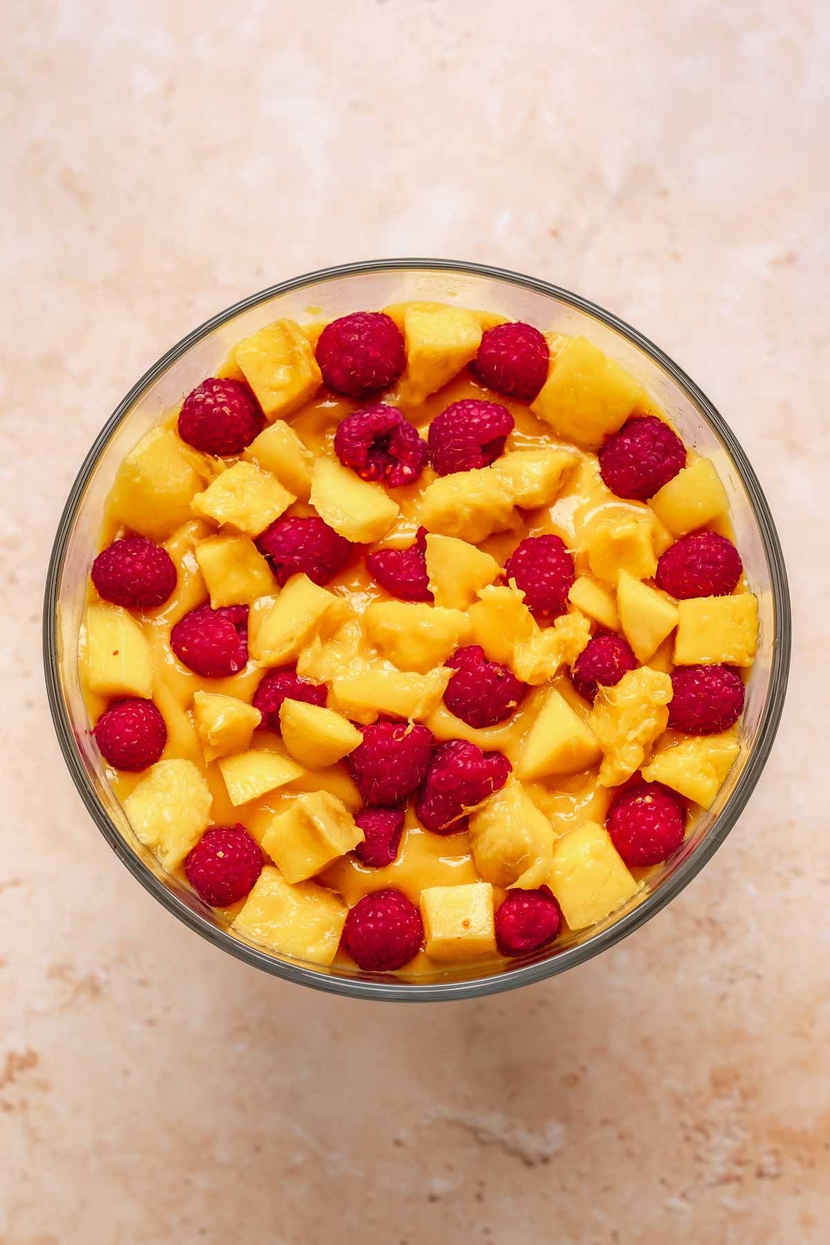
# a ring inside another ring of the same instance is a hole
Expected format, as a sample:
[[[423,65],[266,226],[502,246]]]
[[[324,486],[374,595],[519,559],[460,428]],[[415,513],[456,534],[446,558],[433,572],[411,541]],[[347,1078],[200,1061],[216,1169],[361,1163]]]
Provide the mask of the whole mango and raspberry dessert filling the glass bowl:
[[[474,972],[686,850],[757,629],[717,471],[633,376],[408,303],[266,325],[134,446],[80,670],[134,834],[238,937]]]

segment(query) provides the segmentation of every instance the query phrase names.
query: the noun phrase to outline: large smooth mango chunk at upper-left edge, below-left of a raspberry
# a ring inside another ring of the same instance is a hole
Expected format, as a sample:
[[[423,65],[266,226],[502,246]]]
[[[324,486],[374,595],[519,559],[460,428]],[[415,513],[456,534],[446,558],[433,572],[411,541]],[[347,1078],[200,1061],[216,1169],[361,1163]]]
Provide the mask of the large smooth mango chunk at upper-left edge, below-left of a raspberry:
[[[163,540],[190,518],[190,503],[204,488],[194,459],[172,428],[151,428],[118,468],[111,494],[116,518]]]

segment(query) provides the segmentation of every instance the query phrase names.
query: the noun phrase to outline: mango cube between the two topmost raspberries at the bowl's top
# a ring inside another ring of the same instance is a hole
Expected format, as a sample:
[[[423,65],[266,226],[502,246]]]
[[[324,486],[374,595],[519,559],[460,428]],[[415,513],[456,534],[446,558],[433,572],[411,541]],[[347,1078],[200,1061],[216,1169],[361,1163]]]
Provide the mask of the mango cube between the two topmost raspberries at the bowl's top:
[[[403,336],[406,395],[411,402],[422,402],[469,364],[482,341],[482,325],[463,308],[419,311],[411,306],[403,317]]]

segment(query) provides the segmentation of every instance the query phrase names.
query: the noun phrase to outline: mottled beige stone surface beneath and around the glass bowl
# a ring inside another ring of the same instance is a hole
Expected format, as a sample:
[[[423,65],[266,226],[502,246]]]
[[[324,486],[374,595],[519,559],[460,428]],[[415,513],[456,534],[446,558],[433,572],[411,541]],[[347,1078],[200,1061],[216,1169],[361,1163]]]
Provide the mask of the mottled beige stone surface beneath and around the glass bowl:
[[[4,21],[0,1241],[826,1240],[826,7],[11,0]],[[144,369],[348,259],[539,274],[713,397],[795,662],[738,828],[584,969],[442,1007],[220,955],[111,858],[45,706],[81,459]],[[371,1006],[371,1010],[370,1010]]]

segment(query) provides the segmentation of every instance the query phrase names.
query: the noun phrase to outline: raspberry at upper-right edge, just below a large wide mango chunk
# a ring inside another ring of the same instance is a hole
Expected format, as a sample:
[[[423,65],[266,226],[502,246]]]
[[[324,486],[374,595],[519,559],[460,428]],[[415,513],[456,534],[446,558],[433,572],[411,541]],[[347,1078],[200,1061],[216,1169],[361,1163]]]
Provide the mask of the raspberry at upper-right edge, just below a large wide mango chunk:
[[[600,474],[617,497],[641,502],[686,466],[686,447],[655,415],[628,420],[600,449]]]

